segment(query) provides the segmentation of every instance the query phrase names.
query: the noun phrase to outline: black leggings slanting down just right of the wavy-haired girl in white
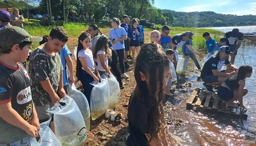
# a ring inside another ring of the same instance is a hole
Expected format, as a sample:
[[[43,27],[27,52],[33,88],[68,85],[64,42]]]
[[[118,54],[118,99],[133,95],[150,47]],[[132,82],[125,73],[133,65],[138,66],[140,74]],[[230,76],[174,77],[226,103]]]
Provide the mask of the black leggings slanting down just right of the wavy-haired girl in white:
[[[116,50],[113,49],[112,50],[112,57],[109,59],[109,65],[110,65],[112,71],[114,72],[114,74],[117,78],[117,81],[119,83],[121,83],[122,79],[121,79],[121,74],[120,74],[120,72],[118,70],[118,67],[117,67],[117,62],[118,62],[118,56],[117,56]]]

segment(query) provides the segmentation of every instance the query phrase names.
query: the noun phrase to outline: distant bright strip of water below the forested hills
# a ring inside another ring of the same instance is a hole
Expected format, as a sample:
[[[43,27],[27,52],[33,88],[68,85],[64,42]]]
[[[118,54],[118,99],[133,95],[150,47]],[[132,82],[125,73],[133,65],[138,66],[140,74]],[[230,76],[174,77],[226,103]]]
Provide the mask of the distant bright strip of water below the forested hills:
[[[238,28],[242,33],[254,33],[256,32],[256,26],[233,26],[233,27],[218,27],[218,28],[206,28],[206,29],[214,29],[222,32],[229,32],[232,29]],[[202,28],[199,28],[202,29]]]

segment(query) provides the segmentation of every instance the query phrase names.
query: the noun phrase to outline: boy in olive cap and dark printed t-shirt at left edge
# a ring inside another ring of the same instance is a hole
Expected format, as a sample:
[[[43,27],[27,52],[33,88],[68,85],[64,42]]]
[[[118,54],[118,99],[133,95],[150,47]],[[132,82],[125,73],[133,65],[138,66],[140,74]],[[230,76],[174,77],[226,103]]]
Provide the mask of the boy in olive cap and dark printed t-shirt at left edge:
[[[0,144],[30,146],[29,137],[40,130],[24,62],[31,42],[42,37],[11,26],[0,31]]]

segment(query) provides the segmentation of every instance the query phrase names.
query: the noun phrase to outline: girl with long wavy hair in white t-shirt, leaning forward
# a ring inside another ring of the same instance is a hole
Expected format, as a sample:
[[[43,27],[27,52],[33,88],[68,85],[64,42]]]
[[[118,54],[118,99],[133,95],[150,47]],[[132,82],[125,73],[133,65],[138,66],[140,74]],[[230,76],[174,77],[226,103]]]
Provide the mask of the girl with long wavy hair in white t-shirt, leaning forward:
[[[101,35],[95,45],[93,56],[98,63],[98,71],[100,76],[106,73],[111,74],[108,59],[111,57],[111,50],[108,45],[109,39],[105,35]]]

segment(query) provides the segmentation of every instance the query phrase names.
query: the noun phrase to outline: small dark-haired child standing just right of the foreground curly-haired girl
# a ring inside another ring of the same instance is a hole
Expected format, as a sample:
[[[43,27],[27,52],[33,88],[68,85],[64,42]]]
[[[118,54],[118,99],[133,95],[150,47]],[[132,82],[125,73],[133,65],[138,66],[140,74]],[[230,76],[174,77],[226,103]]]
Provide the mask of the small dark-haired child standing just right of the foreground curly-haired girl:
[[[173,57],[174,57],[174,51],[172,49],[168,49],[166,50],[166,55],[168,56],[168,59],[169,59],[169,62],[170,62],[170,75],[169,75],[169,81],[167,82],[167,85],[165,87],[165,95],[168,95],[168,96],[173,96],[173,94],[170,92],[171,90],[171,87],[172,87],[172,60],[173,60]]]

